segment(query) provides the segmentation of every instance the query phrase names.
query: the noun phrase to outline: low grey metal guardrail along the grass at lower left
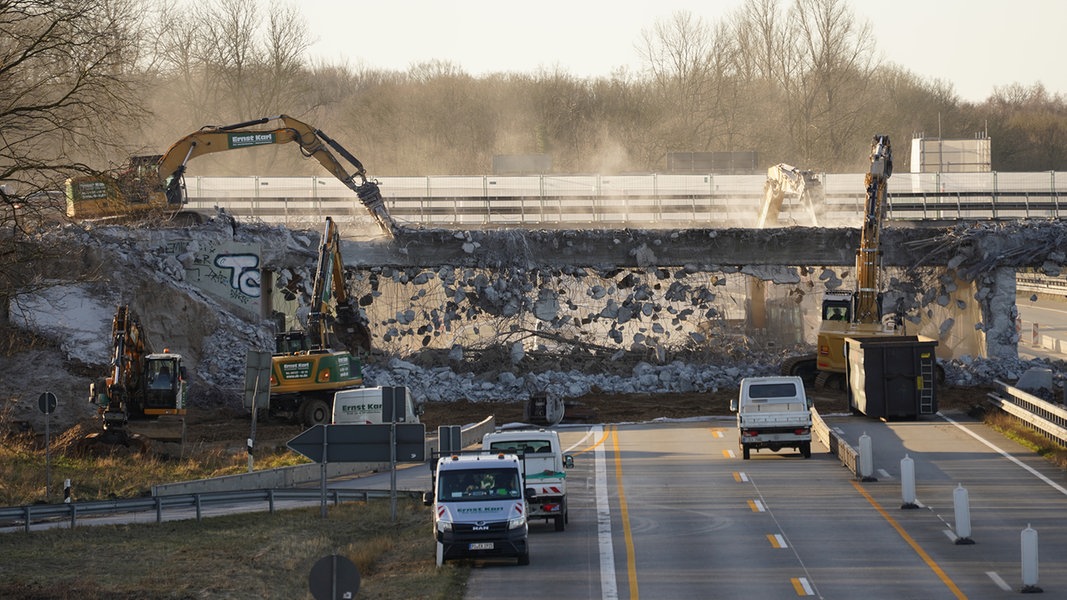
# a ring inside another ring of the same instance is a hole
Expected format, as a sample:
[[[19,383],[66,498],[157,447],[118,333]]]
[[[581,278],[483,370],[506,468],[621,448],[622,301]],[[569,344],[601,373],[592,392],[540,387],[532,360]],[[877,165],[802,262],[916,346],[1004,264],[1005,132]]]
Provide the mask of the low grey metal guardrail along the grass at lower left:
[[[409,498],[421,498],[421,492],[399,491],[398,493],[408,494]],[[372,498],[389,498],[389,491],[327,489],[327,501],[334,505],[341,502],[366,502]],[[275,504],[278,502],[321,500],[321,489],[278,489],[158,495],[128,500],[71,502],[69,504],[30,504],[0,508],[0,526],[22,525],[23,530],[29,532],[34,523],[69,520],[70,527],[74,527],[79,518],[153,510],[156,512],[156,522],[162,523],[165,511],[190,508],[195,509],[196,520],[200,521],[202,509],[212,505],[265,502],[268,505],[268,510],[274,512]]]

